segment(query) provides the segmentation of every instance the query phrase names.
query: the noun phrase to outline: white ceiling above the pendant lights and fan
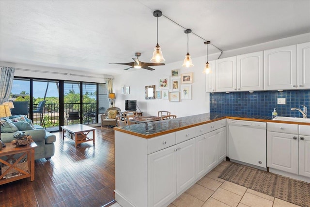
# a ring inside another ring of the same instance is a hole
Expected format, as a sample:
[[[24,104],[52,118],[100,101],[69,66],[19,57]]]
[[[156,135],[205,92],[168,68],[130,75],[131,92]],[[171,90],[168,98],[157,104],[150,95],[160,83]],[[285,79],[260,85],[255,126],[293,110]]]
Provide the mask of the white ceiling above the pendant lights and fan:
[[[164,15],[158,44],[166,64],[185,58],[184,28],[202,37],[189,34],[192,58],[206,55],[205,40],[225,52],[310,32],[310,0],[0,0],[0,61],[128,73],[109,63],[132,62],[135,52],[150,62],[154,10]]]

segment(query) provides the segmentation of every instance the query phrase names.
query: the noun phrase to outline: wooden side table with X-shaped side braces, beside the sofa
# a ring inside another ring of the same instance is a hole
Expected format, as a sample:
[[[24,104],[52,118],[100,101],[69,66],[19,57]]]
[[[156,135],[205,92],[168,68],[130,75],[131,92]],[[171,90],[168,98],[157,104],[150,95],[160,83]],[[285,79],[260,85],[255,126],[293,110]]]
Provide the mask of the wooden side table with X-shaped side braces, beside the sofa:
[[[34,180],[34,148],[37,147],[36,143],[31,143],[31,145],[27,146],[15,146],[11,143],[6,143],[6,147],[2,148],[0,150],[0,167],[2,163],[8,168],[3,172],[1,171],[0,175],[0,185],[9,183],[12,181],[20,180],[26,177],[30,177],[31,181]],[[13,158],[14,155],[22,153],[19,158],[16,159],[16,161],[13,164],[9,163],[9,160]],[[20,160],[23,158],[26,158],[27,155],[27,170],[20,168]],[[7,158],[4,159],[3,156],[6,156]],[[2,158],[2,159],[1,159]],[[1,167],[1,169],[4,169]],[[9,172],[14,169],[18,174],[8,177]],[[4,178],[5,177],[5,178]]]

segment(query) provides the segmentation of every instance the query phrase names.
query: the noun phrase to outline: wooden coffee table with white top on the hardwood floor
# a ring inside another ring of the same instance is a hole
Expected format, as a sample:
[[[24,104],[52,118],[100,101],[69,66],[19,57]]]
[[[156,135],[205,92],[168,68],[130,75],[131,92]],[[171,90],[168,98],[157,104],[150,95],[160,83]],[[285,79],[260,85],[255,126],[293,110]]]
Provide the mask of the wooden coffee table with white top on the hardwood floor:
[[[86,125],[82,124],[74,124],[74,125],[67,125],[67,126],[62,126],[62,140],[64,138],[68,139],[74,139],[75,144],[74,146],[77,147],[79,143],[85,143],[93,140],[93,145],[95,144],[95,129],[93,127],[88,127]],[[65,134],[64,132],[67,131],[71,137]],[[87,135],[93,132],[93,138],[88,137]],[[73,137],[74,136],[74,137]]]

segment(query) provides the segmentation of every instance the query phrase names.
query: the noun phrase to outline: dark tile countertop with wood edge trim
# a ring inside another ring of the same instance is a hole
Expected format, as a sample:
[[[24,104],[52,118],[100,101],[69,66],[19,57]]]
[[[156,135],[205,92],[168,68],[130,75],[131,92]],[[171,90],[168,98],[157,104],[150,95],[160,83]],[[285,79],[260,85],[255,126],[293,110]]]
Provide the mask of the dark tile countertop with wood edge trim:
[[[132,134],[132,135],[142,137],[142,138],[152,138],[152,137],[160,136],[163,134],[168,134],[174,131],[186,129],[189,127],[199,126],[202,124],[206,124],[206,123],[217,121],[217,120],[224,119],[224,118],[247,120],[247,121],[296,124],[292,122],[272,120],[271,116],[203,113],[203,114],[180,117],[180,118],[170,119],[170,120],[133,124],[133,125],[128,125],[124,127],[114,127],[114,130]],[[301,123],[301,124],[305,124],[305,123]]]

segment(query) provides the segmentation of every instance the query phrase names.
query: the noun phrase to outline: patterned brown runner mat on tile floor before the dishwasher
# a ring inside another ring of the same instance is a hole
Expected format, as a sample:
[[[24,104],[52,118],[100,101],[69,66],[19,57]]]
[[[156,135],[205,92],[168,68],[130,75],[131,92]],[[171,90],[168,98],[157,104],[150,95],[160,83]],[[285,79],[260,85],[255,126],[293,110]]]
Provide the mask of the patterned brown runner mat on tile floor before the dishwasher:
[[[302,207],[310,207],[310,183],[307,182],[236,163],[227,166],[218,177]]]

